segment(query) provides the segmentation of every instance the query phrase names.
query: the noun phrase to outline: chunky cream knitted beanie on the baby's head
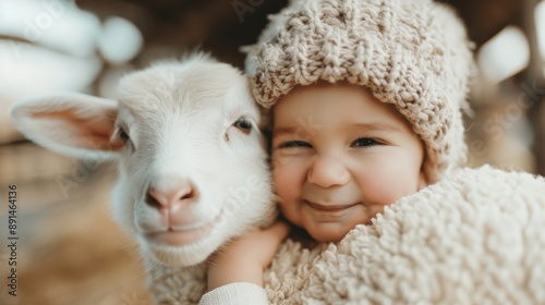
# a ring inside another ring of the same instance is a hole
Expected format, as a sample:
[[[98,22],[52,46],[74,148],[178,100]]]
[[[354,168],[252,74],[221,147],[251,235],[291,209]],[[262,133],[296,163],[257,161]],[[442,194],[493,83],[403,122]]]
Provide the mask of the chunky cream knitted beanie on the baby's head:
[[[451,9],[432,0],[292,0],[270,19],[243,48],[259,105],[318,81],[365,86],[424,142],[429,183],[465,161],[461,109],[473,60]]]

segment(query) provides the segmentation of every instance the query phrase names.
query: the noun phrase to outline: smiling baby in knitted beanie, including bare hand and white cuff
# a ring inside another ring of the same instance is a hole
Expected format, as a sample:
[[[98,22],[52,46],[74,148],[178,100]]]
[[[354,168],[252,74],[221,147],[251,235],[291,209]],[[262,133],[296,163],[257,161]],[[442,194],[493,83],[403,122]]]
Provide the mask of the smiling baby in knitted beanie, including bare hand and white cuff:
[[[432,0],[291,1],[246,61],[286,219],[339,242],[459,167],[471,63],[462,23]],[[267,304],[263,269],[288,232],[227,246],[202,304]]]

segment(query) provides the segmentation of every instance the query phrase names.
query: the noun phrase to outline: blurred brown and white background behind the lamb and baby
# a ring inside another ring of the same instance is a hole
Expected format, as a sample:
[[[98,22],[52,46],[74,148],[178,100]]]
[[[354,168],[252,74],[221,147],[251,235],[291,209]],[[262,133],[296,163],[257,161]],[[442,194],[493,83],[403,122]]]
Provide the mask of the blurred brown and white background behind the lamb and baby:
[[[545,175],[545,1],[452,0],[475,44],[469,166]],[[35,146],[8,120],[28,96],[113,97],[118,80],[187,50],[243,66],[286,0],[0,0],[0,304],[150,304],[113,223],[113,164]],[[66,187],[66,182],[70,187]],[[17,297],[8,294],[8,185],[17,185]]]

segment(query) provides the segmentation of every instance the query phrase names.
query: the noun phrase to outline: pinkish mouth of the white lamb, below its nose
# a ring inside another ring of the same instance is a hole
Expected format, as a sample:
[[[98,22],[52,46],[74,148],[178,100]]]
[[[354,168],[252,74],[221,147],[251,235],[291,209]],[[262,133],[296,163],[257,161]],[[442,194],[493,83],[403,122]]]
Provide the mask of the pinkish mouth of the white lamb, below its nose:
[[[170,246],[187,245],[208,236],[221,219],[221,215],[222,212],[219,212],[213,221],[197,228],[185,230],[169,229],[160,232],[146,233],[144,236],[146,240],[157,244]]]

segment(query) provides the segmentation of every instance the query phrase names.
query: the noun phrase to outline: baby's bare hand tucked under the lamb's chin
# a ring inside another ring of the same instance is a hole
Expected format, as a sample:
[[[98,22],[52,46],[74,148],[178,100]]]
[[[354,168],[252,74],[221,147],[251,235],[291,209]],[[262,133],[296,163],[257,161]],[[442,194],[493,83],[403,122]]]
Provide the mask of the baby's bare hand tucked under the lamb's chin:
[[[208,268],[208,291],[233,282],[251,282],[263,286],[263,270],[270,265],[290,225],[277,221],[264,230],[221,247],[211,257]]]

